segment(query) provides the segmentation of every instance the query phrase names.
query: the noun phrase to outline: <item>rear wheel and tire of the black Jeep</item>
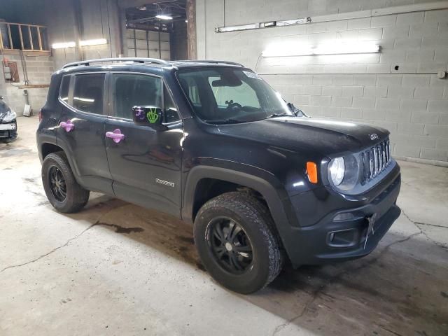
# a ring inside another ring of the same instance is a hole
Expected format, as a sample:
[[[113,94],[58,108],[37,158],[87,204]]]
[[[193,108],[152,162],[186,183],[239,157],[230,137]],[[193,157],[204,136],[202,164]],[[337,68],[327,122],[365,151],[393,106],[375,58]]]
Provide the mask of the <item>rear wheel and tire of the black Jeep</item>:
[[[42,183],[51,205],[64,214],[80,211],[89,200],[89,190],[76,182],[64,152],[45,156]]]

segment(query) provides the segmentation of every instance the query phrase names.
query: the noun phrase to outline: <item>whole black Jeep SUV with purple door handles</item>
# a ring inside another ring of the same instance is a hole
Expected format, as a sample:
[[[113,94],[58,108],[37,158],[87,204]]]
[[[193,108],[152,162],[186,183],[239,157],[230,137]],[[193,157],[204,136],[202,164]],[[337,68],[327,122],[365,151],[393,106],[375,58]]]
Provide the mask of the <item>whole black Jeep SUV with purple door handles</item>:
[[[90,191],[194,223],[202,263],[252,293],[370,253],[400,215],[389,132],[309,118],[241,64],[97,59],[52,75],[37,130],[52,206]]]

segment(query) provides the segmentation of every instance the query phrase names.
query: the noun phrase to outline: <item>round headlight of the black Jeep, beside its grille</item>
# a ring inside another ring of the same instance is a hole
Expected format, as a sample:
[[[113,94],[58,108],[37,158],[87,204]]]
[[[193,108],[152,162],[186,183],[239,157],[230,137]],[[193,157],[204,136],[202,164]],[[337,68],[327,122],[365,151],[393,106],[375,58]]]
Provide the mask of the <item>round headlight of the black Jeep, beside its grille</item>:
[[[358,183],[359,165],[355,156],[334,158],[328,165],[328,176],[339,190],[350,190]]]

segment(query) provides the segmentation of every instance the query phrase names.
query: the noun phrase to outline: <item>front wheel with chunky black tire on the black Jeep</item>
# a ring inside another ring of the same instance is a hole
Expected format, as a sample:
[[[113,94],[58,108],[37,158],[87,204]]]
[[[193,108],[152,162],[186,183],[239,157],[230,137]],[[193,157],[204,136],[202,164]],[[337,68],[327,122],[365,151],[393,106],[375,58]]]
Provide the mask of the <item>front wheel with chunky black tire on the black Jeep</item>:
[[[260,290],[281,271],[274,223],[251,195],[232,192],[209,200],[195,218],[194,237],[207,271],[237,293]]]

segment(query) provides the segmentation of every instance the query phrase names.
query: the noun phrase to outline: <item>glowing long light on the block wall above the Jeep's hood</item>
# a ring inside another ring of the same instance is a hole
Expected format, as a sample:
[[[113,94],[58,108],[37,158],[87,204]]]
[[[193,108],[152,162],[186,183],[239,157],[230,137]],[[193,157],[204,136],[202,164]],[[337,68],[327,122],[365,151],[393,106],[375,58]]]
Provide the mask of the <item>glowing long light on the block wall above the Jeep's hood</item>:
[[[283,45],[271,45],[263,50],[263,57],[285,57],[305,55],[342,55],[365,54],[379,52],[379,45],[369,42],[358,43],[325,43],[311,48],[309,45],[297,45],[294,43]]]

